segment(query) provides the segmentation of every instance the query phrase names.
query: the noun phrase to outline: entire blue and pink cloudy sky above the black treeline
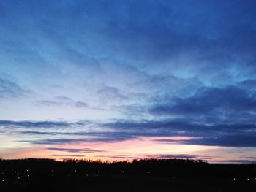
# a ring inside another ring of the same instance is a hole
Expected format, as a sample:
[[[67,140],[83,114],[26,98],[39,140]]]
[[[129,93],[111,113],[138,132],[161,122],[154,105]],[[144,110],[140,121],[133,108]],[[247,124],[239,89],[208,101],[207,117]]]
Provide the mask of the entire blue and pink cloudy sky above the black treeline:
[[[255,162],[255,8],[1,0],[2,158]]]

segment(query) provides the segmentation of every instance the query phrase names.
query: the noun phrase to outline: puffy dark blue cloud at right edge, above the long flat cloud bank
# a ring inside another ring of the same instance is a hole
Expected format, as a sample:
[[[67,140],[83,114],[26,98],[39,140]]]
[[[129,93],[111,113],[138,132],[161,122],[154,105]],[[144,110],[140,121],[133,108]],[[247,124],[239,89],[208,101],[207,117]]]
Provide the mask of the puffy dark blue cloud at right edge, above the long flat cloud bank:
[[[181,115],[189,118],[213,117],[217,120],[232,119],[233,115],[245,112],[255,113],[255,93],[249,90],[228,86],[225,88],[203,87],[189,97],[175,97],[163,104],[155,104],[149,112],[153,115]],[[222,118],[222,119],[221,119]]]

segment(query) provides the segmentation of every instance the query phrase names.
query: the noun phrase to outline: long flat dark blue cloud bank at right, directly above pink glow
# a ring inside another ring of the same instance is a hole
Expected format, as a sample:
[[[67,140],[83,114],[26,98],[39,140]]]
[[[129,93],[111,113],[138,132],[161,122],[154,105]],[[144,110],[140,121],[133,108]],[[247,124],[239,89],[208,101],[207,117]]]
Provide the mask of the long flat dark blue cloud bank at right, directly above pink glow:
[[[156,142],[179,143],[184,145],[208,145],[222,147],[256,147],[255,124],[214,124],[189,123],[175,120],[159,121],[117,121],[104,126],[115,128],[120,135],[133,137],[185,136],[190,139],[156,139]]]

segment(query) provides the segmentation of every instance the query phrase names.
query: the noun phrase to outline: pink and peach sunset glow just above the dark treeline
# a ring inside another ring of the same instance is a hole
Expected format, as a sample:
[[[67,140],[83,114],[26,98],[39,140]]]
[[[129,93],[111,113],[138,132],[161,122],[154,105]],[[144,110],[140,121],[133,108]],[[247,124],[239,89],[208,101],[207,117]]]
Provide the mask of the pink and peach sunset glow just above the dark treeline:
[[[171,139],[173,142],[158,142]],[[139,137],[117,142],[74,142],[59,145],[40,145],[1,152],[3,158],[64,158],[122,161],[135,158],[196,158],[208,162],[228,161],[241,156],[240,153],[225,153],[225,148],[200,145],[184,145],[180,140],[192,137]],[[224,150],[222,152],[222,150]],[[232,149],[231,149],[232,150]],[[252,154],[255,155],[255,154]]]

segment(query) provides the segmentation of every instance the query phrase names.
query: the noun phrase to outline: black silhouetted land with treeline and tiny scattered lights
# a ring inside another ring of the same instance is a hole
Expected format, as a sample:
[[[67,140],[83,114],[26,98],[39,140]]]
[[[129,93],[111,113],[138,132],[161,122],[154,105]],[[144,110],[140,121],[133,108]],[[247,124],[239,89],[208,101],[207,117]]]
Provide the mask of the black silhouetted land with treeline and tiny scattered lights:
[[[256,191],[256,165],[0,160],[0,191]]]

